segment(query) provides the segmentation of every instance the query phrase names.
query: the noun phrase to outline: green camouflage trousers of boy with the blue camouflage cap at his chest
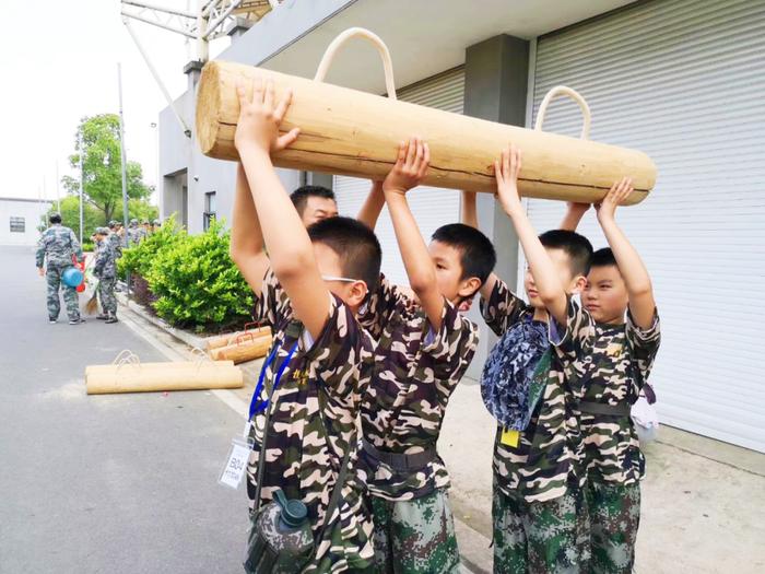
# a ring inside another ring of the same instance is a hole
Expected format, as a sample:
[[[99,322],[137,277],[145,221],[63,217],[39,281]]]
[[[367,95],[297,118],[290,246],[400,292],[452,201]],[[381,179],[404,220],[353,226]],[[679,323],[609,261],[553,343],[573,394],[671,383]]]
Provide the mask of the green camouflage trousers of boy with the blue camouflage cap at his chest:
[[[569,574],[589,569],[584,492],[527,503],[494,484],[494,574]]]

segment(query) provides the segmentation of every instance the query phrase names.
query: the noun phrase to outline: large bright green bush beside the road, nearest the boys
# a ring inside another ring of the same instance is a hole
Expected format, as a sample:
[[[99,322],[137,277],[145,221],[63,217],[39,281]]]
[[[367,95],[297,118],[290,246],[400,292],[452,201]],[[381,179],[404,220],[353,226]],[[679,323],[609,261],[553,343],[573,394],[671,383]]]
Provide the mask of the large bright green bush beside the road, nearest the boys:
[[[223,328],[249,317],[252,292],[231,260],[228,245],[228,233],[222,223],[213,222],[200,235],[178,234],[153,254],[148,271],[137,256],[136,268],[157,297],[153,304],[156,314],[172,325],[198,330],[212,325]]]

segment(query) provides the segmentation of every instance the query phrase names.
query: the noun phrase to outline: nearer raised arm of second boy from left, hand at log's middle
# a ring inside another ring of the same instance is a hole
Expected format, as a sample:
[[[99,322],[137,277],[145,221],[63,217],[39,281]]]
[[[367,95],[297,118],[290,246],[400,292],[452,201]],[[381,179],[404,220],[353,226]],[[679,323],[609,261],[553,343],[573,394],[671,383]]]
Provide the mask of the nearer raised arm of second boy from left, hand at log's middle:
[[[409,284],[420,300],[431,326],[437,331],[440,329],[444,296],[438,291],[436,267],[407,201],[407,191],[422,181],[429,162],[427,143],[417,138],[412,138],[409,143],[402,142],[396,165],[382,183],[382,191]]]

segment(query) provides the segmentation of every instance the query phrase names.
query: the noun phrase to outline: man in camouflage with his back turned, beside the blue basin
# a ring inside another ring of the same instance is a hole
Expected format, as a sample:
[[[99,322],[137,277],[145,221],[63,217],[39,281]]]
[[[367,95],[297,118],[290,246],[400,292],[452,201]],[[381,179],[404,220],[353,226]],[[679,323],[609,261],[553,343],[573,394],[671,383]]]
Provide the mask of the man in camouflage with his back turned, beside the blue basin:
[[[58,320],[61,312],[61,303],[58,294],[63,289],[63,301],[69,315],[69,325],[80,325],[85,319],[80,317],[80,300],[76,289],[61,282],[63,271],[72,267],[72,256],[76,256],[78,261],[83,260],[82,248],[74,236],[74,232],[61,225],[61,215],[51,213],[50,227],[43,232],[37,242],[37,253],[35,260],[39,276],[47,276],[48,281],[48,319],[51,324]],[[47,257],[47,270],[44,262]]]

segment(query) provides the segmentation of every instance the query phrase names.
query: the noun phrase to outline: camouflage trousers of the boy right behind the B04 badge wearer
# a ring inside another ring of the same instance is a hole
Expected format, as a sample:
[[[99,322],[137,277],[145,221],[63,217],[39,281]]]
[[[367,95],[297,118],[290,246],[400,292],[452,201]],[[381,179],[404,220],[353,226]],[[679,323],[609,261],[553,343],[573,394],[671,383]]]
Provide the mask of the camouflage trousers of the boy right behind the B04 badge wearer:
[[[459,572],[455,520],[445,489],[411,501],[372,496],[372,515],[381,574]]]

